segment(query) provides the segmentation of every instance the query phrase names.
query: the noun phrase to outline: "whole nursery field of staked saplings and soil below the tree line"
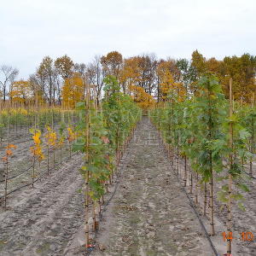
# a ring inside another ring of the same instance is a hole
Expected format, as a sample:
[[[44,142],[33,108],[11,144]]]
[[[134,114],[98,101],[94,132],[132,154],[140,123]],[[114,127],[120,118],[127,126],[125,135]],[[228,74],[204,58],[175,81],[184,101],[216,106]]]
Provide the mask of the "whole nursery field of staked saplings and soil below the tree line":
[[[0,255],[255,255],[253,103],[212,75],[143,109],[105,83],[2,110]]]

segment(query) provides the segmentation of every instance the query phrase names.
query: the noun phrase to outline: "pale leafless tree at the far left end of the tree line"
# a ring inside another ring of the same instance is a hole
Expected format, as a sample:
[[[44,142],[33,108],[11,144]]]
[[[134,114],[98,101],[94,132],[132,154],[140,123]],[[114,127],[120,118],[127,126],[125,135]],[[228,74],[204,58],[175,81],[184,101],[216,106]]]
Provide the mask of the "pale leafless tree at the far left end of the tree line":
[[[15,67],[3,65],[0,67],[0,85],[3,91],[3,102],[6,101],[6,96],[8,95],[8,87],[10,90],[19,70]]]

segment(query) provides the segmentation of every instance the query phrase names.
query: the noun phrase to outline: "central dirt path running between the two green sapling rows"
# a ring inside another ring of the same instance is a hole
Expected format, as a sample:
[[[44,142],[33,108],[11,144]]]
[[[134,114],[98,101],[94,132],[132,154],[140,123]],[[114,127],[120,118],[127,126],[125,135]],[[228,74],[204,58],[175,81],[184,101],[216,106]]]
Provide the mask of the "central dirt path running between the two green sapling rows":
[[[127,150],[119,187],[91,255],[213,255],[147,118]]]

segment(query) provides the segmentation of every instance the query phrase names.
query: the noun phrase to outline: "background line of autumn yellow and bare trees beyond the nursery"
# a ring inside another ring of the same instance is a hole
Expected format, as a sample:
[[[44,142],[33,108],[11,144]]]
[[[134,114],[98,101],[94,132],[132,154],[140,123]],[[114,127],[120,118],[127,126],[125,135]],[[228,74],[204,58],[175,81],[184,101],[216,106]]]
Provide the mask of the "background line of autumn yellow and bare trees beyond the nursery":
[[[63,55],[53,60],[45,56],[29,79],[16,80],[18,69],[0,67],[0,93],[3,102],[29,102],[63,105],[73,108],[85,95],[89,85],[90,95],[99,103],[102,99],[104,78],[114,76],[125,94],[134,97],[141,107],[154,102],[165,102],[167,91],[177,90],[180,95],[195,94],[197,81],[203,74],[214,74],[229,95],[229,79],[233,79],[234,99],[250,102],[255,91],[256,56],[226,56],[223,60],[207,59],[195,50],[191,59],[158,59],[154,54],[124,58],[118,51],[96,55],[87,64],[75,63]]]

